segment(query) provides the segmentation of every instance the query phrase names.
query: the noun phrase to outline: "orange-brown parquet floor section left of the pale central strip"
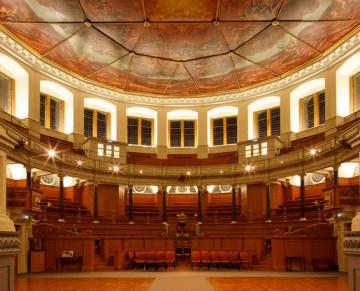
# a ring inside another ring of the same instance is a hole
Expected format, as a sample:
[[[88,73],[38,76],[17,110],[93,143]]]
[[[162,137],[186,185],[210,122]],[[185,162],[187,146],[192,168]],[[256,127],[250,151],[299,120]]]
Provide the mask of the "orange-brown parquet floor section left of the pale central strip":
[[[147,291],[154,278],[17,278],[15,291]]]

